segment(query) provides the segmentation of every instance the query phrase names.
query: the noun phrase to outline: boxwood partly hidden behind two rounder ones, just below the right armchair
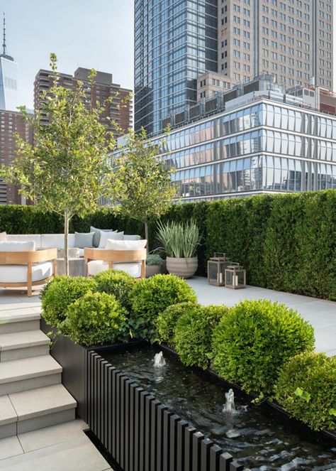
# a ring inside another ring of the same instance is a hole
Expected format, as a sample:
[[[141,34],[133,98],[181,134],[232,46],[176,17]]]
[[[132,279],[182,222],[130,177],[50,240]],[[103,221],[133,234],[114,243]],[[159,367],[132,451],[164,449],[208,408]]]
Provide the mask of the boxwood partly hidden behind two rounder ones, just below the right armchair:
[[[136,283],[135,278],[121,270],[101,271],[93,277],[96,281],[96,290],[116,296],[125,308],[129,308],[130,293]]]

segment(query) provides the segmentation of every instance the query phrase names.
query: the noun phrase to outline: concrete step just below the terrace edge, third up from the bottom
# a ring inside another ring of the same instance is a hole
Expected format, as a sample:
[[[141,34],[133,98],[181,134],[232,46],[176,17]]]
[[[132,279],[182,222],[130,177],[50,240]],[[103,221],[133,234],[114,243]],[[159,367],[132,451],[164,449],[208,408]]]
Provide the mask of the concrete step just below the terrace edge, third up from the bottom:
[[[0,362],[40,357],[49,353],[50,339],[41,330],[0,335]]]

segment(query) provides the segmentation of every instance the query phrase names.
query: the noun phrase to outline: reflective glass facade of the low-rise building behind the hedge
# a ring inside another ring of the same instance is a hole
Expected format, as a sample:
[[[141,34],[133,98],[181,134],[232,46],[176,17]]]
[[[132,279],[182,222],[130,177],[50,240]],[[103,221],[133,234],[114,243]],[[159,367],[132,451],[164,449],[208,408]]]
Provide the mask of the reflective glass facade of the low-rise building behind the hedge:
[[[186,200],[336,188],[336,117],[261,99],[171,131]]]

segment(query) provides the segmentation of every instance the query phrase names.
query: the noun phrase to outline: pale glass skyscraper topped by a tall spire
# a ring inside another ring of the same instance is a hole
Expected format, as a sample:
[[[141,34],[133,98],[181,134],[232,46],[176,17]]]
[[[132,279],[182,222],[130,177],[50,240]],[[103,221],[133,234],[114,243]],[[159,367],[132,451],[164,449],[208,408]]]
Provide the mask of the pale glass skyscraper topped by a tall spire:
[[[18,64],[6,52],[6,18],[4,13],[4,43],[0,55],[0,109],[17,111]]]

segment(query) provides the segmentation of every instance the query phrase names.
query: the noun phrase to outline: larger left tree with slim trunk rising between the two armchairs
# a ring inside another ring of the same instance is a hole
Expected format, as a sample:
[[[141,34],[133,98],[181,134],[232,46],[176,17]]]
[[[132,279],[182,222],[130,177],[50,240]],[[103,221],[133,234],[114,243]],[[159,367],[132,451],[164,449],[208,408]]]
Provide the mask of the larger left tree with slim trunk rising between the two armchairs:
[[[64,217],[68,274],[69,221],[96,210],[101,197],[116,194],[116,173],[108,158],[116,141],[108,131],[113,123],[102,123],[104,105],[93,102],[96,72],[89,75],[90,100],[82,82],[72,90],[60,85],[55,54],[50,55],[50,66],[52,87],[42,92],[40,110],[32,117],[26,107],[20,108],[33,129],[34,145],[16,135],[17,156],[11,166],[1,168],[1,176],[42,210]]]

